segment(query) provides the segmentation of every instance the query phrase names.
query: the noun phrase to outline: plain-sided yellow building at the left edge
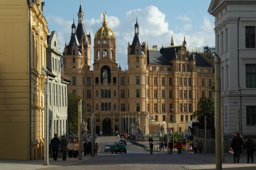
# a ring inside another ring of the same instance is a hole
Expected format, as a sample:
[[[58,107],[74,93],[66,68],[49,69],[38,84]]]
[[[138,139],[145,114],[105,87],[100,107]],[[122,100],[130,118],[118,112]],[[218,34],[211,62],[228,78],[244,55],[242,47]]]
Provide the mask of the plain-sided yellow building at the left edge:
[[[0,1],[0,159],[40,159],[49,30],[41,0]]]

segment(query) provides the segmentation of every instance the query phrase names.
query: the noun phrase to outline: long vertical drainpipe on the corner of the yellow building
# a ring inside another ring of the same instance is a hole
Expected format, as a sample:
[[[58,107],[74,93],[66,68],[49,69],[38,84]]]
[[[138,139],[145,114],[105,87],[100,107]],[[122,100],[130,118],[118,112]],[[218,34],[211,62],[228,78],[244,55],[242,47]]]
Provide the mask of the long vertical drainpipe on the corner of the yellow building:
[[[27,0],[28,4],[28,11],[29,11],[29,159],[32,160],[32,75],[31,75],[31,6],[30,6],[30,0]]]

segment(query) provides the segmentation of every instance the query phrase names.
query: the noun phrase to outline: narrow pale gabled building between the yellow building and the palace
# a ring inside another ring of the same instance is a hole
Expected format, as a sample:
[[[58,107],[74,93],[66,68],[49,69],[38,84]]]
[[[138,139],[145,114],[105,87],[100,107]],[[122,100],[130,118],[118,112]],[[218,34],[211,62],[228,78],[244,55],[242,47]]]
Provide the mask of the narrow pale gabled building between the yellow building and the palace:
[[[55,133],[60,138],[68,137],[68,113],[67,113],[67,85],[70,79],[61,72],[61,57],[59,43],[55,31],[47,36],[46,62],[49,78],[49,138]]]

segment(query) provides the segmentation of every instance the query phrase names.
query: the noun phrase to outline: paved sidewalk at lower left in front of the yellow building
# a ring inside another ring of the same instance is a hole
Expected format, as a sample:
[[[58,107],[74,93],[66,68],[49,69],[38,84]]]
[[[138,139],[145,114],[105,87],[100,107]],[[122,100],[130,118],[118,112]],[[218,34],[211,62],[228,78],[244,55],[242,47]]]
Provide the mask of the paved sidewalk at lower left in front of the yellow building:
[[[0,170],[35,170],[49,167],[75,166],[83,164],[92,158],[93,157],[91,156],[82,156],[83,160],[78,160],[78,158],[67,158],[66,161],[62,161],[62,158],[58,158],[57,161],[53,161],[53,158],[49,158],[49,166],[44,166],[44,159],[33,161],[0,159]]]

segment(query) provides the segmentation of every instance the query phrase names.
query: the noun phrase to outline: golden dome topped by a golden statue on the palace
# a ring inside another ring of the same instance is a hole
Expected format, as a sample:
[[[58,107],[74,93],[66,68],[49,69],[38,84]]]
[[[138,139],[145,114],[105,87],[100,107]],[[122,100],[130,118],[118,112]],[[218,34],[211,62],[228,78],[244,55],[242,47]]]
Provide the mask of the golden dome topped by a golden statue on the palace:
[[[106,22],[106,12],[103,13],[103,22],[102,22],[102,27],[99,28],[95,34],[95,39],[102,39],[102,38],[115,38],[115,33],[107,27],[107,22]]]

